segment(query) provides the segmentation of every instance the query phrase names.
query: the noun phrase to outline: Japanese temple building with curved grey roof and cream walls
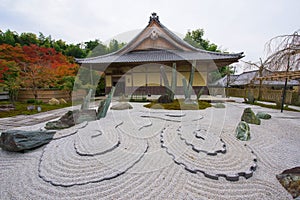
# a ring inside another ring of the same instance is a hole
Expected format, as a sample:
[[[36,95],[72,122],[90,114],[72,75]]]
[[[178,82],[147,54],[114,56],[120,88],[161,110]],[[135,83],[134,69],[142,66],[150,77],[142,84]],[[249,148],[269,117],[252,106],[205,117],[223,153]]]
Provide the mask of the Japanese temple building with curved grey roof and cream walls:
[[[195,48],[179,38],[152,13],[146,28],[122,49],[111,54],[78,59],[87,68],[105,73],[105,92],[116,86],[116,95],[163,94],[160,67],[164,66],[169,82],[171,69],[177,70],[176,94],[183,94],[182,78],[189,80],[195,67],[193,89],[207,86],[208,73],[217,67],[238,62],[243,53],[227,54]]]

